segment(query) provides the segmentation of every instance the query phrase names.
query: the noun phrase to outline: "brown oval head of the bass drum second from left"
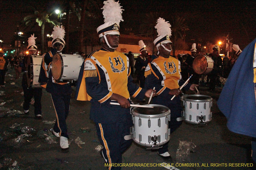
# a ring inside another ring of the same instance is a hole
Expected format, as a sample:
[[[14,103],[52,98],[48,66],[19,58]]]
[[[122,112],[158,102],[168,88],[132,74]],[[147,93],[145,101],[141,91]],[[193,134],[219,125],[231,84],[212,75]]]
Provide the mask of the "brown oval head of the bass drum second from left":
[[[59,81],[63,73],[63,59],[62,56],[57,53],[52,58],[52,77]]]

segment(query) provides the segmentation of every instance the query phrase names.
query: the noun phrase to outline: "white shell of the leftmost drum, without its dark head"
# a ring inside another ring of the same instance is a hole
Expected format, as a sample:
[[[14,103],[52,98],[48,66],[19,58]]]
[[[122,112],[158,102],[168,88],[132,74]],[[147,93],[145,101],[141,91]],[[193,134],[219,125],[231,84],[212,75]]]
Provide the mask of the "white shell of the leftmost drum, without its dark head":
[[[38,82],[39,73],[41,69],[41,63],[43,60],[43,56],[41,55],[32,55],[32,61],[31,61],[31,70],[33,70],[33,75],[31,74],[31,79],[33,80],[31,83],[32,88],[38,88],[41,87],[40,83]],[[33,63],[33,64],[32,64]]]

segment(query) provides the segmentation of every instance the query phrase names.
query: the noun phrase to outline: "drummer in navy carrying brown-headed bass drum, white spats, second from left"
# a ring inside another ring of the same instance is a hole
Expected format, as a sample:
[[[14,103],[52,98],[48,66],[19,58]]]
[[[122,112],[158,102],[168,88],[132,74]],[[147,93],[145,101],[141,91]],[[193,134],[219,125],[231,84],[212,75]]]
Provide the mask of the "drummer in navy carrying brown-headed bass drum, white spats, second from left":
[[[52,49],[44,55],[38,82],[40,82],[42,87],[46,88],[47,92],[51,93],[53,107],[57,117],[52,132],[56,137],[60,137],[61,151],[68,152],[68,131],[66,118],[69,112],[72,88],[69,85],[69,82],[59,83],[55,81],[52,77],[52,70],[49,69],[52,62],[52,57],[57,52],[60,53],[65,47],[65,30],[63,26],[54,26],[53,30]]]

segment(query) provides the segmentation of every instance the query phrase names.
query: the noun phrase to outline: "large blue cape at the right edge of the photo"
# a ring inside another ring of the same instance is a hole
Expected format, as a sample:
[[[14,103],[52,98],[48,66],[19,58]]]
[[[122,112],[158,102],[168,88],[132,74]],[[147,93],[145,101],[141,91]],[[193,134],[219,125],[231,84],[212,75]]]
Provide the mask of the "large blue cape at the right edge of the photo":
[[[253,83],[255,42],[256,39],[239,55],[217,102],[220,111],[228,119],[228,129],[251,137],[256,137],[256,101]]]

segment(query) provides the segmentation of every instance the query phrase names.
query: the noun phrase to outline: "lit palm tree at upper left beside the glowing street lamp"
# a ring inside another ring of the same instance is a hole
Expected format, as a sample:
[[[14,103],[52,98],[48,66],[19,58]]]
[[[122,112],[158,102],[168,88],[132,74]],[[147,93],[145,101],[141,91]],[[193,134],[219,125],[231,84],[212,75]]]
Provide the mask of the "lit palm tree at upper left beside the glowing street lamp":
[[[45,23],[50,23],[54,26],[56,26],[57,21],[51,20],[49,17],[52,15],[52,13],[48,13],[44,10],[35,10],[35,13],[33,15],[28,15],[24,17],[23,22],[26,26],[28,25],[35,25],[38,24],[40,26],[40,34],[41,34],[41,50],[42,53],[45,52],[44,49],[44,26]]]

